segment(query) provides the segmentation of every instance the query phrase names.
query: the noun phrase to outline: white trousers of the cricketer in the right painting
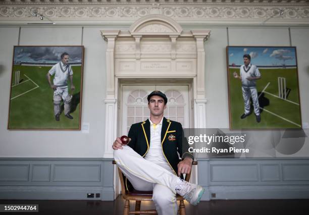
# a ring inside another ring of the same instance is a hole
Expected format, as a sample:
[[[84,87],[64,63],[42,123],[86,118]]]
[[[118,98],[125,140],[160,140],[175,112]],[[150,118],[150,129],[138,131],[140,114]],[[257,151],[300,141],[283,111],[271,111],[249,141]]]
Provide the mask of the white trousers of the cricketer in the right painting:
[[[259,97],[258,91],[255,87],[241,87],[242,89],[242,97],[244,101],[244,113],[250,113],[250,97],[252,97],[252,102],[254,106],[254,114],[260,115],[260,105],[259,105]]]

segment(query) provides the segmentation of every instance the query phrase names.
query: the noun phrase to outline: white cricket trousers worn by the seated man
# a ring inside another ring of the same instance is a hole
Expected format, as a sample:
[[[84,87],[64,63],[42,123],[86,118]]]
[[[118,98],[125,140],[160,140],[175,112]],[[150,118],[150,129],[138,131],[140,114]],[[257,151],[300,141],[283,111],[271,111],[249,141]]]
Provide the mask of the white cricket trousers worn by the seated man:
[[[130,146],[114,150],[114,159],[135,190],[152,190],[152,200],[159,215],[176,215],[176,184],[180,181],[173,173],[149,162]]]

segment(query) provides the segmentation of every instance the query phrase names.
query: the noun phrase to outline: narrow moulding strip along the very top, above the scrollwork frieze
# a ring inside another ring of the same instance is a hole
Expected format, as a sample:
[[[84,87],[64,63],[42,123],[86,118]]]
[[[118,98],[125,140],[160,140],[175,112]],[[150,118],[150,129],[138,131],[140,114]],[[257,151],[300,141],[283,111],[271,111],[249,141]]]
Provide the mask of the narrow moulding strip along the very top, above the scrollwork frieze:
[[[306,6],[309,0],[0,0],[0,5],[242,5]]]

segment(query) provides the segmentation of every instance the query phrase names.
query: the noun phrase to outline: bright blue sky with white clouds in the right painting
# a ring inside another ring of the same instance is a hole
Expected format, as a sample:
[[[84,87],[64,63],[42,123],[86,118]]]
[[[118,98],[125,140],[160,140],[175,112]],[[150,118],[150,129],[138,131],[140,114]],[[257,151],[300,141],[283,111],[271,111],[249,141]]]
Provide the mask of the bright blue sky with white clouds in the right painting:
[[[294,47],[233,47],[228,49],[229,65],[242,65],[242,56],[247,53],[251,56],[251,64],[256,66],[296,66]]]

